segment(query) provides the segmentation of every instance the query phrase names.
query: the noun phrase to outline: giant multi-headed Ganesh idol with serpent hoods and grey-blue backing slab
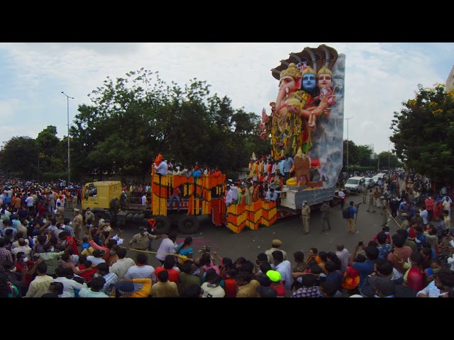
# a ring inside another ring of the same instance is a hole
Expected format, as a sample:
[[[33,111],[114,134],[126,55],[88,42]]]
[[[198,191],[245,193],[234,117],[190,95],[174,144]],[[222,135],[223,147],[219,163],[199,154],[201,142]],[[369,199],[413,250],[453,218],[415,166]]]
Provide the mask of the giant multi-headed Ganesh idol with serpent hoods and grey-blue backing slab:
[[[309,181],[331,187],[342,169],[345,55],[326,45],[289,55],[271,70],[278,94],[275,111],[262,113],[261,137],[270,137],[274,159],[294,157],[301,147],[316,169]]]

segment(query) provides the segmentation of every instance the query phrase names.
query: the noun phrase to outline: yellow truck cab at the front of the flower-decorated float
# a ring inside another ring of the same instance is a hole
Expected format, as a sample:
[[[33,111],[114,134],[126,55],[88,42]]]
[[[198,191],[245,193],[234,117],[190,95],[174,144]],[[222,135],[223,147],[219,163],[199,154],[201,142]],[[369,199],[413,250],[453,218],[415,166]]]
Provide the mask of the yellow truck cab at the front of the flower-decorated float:
[[[82,210],[90,208],[96,217],[111,220],[115,203],[121,197],[120,181],[98,181],[86,183],[82,189]]]

